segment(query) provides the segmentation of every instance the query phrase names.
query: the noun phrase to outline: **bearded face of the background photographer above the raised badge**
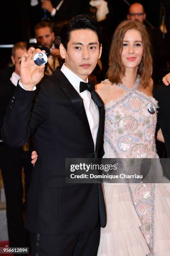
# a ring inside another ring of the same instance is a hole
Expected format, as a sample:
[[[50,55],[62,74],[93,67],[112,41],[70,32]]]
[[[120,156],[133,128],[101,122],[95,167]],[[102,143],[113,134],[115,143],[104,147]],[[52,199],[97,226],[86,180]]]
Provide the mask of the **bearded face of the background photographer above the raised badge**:
[[[54,33],[50,31],[49,27],[38,28],[35,31],[35,37],[37,38],[38,44],[50,49],[54,43]]]

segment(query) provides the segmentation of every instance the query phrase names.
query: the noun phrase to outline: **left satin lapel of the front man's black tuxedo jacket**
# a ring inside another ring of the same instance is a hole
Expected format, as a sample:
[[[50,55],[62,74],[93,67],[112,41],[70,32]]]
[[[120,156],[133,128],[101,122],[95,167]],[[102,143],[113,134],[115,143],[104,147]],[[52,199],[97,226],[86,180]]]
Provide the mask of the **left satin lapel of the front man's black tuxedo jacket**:
[[[82,123],[85,126],[85,129],[87,131],[87,135],[90,138],[90,141],[92,143],[92,146],[94,147],[94,142],[92,139],[92,134],[90,131],[89,122],[87,119],[87,115],[85,113],[85,108],[83,104],[83,100],[78,94],[78,92],[74,89],[74,87],[70,84],[68,79],[65,77],[65,75],[60,71],[59,68],[55,70],[55,75],[60,81],[60,88],[62,91],[67,95],[67,97],[71,100],[72,104],[75,107],[75,110],[77,111],[77,114],[79,115],[80,119],[82,120]]]

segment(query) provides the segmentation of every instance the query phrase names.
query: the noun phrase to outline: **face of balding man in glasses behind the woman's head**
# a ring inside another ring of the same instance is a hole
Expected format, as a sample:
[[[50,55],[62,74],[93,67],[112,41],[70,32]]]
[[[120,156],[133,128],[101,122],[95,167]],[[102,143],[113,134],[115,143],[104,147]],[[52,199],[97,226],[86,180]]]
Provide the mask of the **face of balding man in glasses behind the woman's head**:
[[[140,23],[143,23],[143,20],[146,18],[144,13],[143,5],[135,3],[130,6],[129,14],[127,15],[128,20],[138,20]]]

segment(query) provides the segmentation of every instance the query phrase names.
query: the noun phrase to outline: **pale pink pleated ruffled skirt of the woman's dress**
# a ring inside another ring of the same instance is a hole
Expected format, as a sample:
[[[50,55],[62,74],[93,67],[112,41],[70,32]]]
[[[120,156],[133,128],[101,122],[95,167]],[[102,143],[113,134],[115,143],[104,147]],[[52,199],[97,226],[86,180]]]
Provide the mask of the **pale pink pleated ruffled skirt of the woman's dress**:
[[[151,225],[141,222],[127,184],[106,183],[103,192],[107,225],[97,256],[170,256],[170,183],[155,184]]]

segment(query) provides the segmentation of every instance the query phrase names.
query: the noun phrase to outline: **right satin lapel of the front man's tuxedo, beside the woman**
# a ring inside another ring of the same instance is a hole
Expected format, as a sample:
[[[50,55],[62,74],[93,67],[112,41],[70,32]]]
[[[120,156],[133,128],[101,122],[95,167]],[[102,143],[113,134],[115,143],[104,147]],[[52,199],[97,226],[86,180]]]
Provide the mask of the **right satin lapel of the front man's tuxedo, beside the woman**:
[[[103,136],[103,132],[104,132],[105,110],[104,110],[104,104],[100,96],[97,94],[97,92],[92,91],[91,96],[92,96],[92,100],[95,102],[99,110],[99,127],[97,131],[97,139],[96,139],[96,145],[95,145],[95,151],[98,151],[100,142]]]

